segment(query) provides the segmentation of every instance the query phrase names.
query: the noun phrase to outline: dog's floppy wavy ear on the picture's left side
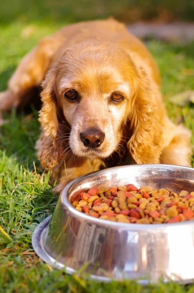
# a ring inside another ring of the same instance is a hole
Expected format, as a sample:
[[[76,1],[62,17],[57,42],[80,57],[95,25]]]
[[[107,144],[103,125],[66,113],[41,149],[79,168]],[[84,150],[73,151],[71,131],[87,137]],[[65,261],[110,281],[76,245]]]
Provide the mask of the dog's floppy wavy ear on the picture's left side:
[[[60,106],[58,105],[55,92],[56,68],[57,65],[48,71],[42,84],[43,91],[41,93],[41,98],[43,106],[40,111],[39,121],[41,122],[43,133],[36,143],[38,158],[41,165],[46,169],[51,169],[56,166],[63,153],[63,144],[60,141],[60,136],[62,134],[60,127],[64,125],[65,129],[65,118],[63,117],[63,121],[60,120],[62,115],[59,110]],[[63,123],[60,126],[59,120],[60,123]],[[65,131],[63,133],[65,134]]]

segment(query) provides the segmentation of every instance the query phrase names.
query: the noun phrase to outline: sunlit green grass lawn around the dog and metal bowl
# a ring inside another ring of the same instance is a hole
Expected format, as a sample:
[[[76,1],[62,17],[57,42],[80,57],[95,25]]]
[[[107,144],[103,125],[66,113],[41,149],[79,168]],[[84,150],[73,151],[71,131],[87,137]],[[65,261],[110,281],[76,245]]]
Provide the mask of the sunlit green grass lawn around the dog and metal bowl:
[[[38,12],[35,8],[28,11],[31,18],[26,19],[25,8],[30,9],[27,3],[18,18],[13,17],[12,3],[4,1],[0,12],[0,90],[6,88],[22,56],[42,36],[55,31],[62,22],[78,20],[72,14],[66,21],[60,18],[57,22],[57,16],[55,21],[52,18],[40,21],[40,17],[32,21],[34,15],[40,14],[41,7]],[[37,1],[37,5],[41,4]],[[184,120],[194,133],[194,106],[181,108],[168,101],[176,93],[194,89],[194,44],[149,41],[147,45],[160,67],[169,115],[176,123]],[[52,269],[39,259],[32,249],[31,236],[37,225],[52,214],[57,195],[49,186],[49,175],[39,170],[35,155],[34,144],[39,136],[37,117],[35,110],[30,115],[12,112],[7,115],[7,124],[0,128],[0,293],[194,293],[194,285],[158,283],[144,288],[130,281],[109,284],[85,281]]]

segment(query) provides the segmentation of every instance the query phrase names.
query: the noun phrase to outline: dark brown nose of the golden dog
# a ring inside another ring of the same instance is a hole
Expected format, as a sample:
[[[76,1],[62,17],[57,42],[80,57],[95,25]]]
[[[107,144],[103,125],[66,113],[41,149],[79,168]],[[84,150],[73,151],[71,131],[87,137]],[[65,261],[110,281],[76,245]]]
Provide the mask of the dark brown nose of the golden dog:
[[[80,139],[85,146],[99,147],[105,140],[105,133],[99,129],[88,129],[80,133]]]

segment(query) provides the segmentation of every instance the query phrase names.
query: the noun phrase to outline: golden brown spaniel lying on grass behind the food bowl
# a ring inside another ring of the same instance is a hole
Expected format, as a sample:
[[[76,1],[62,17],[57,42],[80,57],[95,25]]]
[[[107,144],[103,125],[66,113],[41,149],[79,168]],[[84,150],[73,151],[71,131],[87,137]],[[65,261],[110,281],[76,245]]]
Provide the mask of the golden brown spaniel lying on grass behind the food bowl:
[[[190,131],[167,117],[158,68],[123,24],[82,22],[41,40],[0,93],[0,109],[27,103],[41,84],[38,157],[60,172],[56,190],[132,160],[190,166]]]

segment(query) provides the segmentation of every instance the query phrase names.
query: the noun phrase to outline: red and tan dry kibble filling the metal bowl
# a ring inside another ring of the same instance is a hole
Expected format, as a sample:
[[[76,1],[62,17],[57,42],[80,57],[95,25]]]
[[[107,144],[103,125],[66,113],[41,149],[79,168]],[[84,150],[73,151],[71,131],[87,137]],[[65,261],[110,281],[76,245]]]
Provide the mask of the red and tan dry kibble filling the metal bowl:
[[[73,199],[75,209],[92,217],[116,222],[161,224],[194,220],[194,192],[165,188],[151,190],[133,184],[90,188]]]

